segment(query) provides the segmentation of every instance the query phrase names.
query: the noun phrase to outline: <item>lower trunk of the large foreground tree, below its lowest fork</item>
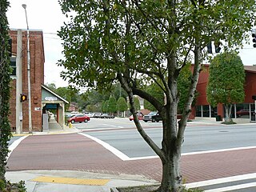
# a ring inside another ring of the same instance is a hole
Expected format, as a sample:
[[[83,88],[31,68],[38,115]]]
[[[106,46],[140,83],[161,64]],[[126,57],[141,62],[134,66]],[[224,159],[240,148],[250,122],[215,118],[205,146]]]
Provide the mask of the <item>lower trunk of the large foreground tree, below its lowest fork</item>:
[[[162,182],[158,192],[177,192],[182,187],[182,175],[179,166],[180,155],[173,154],[172,157],[162,161]]]

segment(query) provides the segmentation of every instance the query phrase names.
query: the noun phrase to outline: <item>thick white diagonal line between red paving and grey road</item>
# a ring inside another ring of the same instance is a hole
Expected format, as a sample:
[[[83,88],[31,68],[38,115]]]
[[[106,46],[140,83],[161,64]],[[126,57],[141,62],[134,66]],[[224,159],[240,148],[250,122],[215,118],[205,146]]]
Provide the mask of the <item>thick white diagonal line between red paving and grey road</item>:
[[[105,147],[106,150],[110,150],[111,153],[116,155],[118,158],[121,158],[122,161],[127,161],[130,159],[126,154],[123,154],[120,150],[114,148],[113,146],[110,146],[110,144],[103,142],[102,140],[100,140],[98,138],[94,138],[93,136],[90,136],[89,134],[83,134],[83,133],[78,133],[78,134],[82,134],[86,138],[90,138],[90,139],[94,140],[95,142],[98,142],[98,144]]]

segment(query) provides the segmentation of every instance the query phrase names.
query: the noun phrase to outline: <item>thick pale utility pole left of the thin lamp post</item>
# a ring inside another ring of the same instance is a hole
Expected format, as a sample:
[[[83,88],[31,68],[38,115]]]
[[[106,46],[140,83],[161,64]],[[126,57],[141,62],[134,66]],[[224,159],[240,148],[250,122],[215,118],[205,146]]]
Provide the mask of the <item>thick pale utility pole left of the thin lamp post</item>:
[[[22,30],[17,32],[16,56],[16,134],[22,134]]]

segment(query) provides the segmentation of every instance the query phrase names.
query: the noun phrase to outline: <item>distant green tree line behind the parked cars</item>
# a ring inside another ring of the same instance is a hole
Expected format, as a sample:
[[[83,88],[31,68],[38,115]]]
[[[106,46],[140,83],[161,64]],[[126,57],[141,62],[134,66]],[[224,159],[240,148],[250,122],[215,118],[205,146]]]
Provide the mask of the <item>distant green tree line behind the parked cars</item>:
[[[182,114],[185,97],[189,89],[190,78],[190,65],[188,65],[182,70],[178,81],[178,90],[181,95],[180,102],[178,103],[179,114]],[[100,92],[97,89],[90,89],[83,93],[79,93],[79,91],[72,88],[72,86],[57,88],[54,83],[46,84],[46,86],[69,102],[69,104],[66,105],[66,110],[68,110],[70,103],[76,103],[79,111],[110,113],[117,114],[118,116],[124,116],[124,112],[130,109],[130,104],[127,102],[128,95],[119,83],[111,85],[110,89],[104,92]],[[162,90],[159,90],[159,86],[156,84],[150,83],[144,89],[158,98],[158,101],[162,102],[162,104],[165,102],[165,95],[162,94]],[[155,107],[146,100],[144,100],[143,104],[144,109],[151,111],[156,110]],[[135,110],[141,110],[138,97],[134,97],[134,106]]]

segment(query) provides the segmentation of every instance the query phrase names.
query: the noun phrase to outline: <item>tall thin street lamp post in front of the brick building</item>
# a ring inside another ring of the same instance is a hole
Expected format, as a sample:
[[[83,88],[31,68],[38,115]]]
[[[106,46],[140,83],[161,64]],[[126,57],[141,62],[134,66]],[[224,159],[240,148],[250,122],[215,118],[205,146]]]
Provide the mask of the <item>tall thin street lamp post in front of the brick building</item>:
[[[25,10],[26,14],[26,4],[22,4],[22,7]],[[27,15],[26,15],[26,38],[27,38],[27,97],[29,102],[29,133],[32,133],[32,118],[31,118],[31,86],[30,86],[30,29],[29,24],[27,22]]]

